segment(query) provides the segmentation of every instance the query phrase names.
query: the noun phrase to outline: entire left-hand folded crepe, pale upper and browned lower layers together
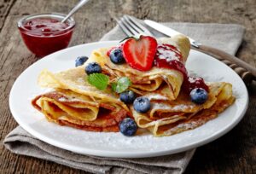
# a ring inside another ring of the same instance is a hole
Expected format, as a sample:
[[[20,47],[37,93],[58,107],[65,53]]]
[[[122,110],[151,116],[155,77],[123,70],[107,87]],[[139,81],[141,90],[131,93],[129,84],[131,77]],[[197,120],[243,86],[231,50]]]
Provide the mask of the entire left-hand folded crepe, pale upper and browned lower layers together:
[[[59,125],[86,131],[119,131],[119,122],[131,115],[129,108],[110,88],[97,90],[86,78],[83,67],[61,73],[44,70],[38,84],[54,90],[35,97],[32,105]]]

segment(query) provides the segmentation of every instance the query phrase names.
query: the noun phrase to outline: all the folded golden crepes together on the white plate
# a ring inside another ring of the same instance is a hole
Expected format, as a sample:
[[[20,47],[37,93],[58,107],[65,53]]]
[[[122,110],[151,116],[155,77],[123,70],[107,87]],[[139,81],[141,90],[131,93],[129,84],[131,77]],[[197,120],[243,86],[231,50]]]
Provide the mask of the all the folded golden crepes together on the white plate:
[[[180,51],[185,62],[189,55],[189,39],[183,36],[159,38],[158,44],[171,44]],[[147,129],[154,136],[170,136],[195,129],[214,119],[234,101],[232,85],[224,82],[207,83],[207,102],[191,102],[183,90],[183,74],[174,69],[153,67],[141,72],[126,63],[113,64],[107,55],[109,48],[96,49],[84,66],[61,73],[44,70],[38,78],[41,87],[53,88],[52,92],[37,96],[32,105],[44,113],[49,121],[85,131],[119,131],[119,122],[125,117],[134,118],[138,127]],[[147,113],[137,113],[132,105],[125,105],[119,95],[111,90],[98,90],[87,81],[84,67],[90,62],[102,66],[102,73],[111,81],[128,77],[129,90],[137,96],[146,96],[151,108]]]

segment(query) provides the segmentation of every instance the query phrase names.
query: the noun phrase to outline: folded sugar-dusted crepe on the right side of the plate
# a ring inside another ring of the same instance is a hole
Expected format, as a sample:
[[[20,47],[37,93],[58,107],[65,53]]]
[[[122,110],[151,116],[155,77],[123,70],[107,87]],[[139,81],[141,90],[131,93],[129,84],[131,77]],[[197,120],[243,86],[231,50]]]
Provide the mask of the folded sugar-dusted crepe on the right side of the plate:
[[[207,102],[197,105],[191,102],[189,95],[180,92],[174,101],[161,95],[161,90],[146,95],[151,102],[148,113],[137,113],[133,107],[131,112],[137,125],[146,128],[154,136],[171,136],[182,131],[195,129],[214,119],[235,102],[232,96],[232,85],[229,83],[208,83]]]

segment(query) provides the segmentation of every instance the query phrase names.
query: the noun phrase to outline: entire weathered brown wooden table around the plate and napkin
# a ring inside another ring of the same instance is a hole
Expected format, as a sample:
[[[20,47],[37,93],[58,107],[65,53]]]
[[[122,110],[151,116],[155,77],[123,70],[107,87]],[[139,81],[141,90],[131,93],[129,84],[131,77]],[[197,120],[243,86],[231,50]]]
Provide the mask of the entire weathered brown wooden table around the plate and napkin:
[[[67,13],[77,1],[2,0],[0,2],[0,173],[84,173],[43,159],[11,154],[3,139],[17,123],[9,111],[9,91],[22,71],[38,58],[22,43],[16,21],[26,14]],[[102,38],[115,26],[111,16],[131,14],[158,21],[236,23],[246,33],[237,56],[256,67],[255,0],[94,0],[74,15],[78,22],[71,46]],[[250,103],[244,119],[225,136],[201,148],[189,163],[187,173],[256,172],[256,84],[248,87]],[[22,91],[20,91],[22,92]]]

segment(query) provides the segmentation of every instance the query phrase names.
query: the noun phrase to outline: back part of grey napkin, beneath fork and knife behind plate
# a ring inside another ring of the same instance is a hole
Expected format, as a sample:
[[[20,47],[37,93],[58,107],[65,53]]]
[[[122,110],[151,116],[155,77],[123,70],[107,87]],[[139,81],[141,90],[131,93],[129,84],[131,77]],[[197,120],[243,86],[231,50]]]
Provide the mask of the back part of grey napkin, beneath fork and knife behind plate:
[[[172,29],[194,38],[195,41],[212,46],[216,49],[222,49],[230,55],[235,55],[239,48],[244,27],[236,24],[198,24],[198,23],[162,23]],[[165,35],[148,28],[156,37],[165,37]],[[113,30],[102,37],[104,40],[120,40],[125,38],[125,33],[115,26]]]

